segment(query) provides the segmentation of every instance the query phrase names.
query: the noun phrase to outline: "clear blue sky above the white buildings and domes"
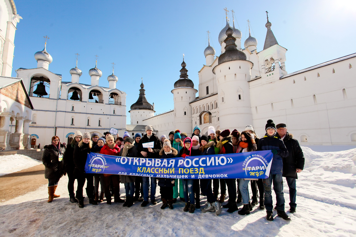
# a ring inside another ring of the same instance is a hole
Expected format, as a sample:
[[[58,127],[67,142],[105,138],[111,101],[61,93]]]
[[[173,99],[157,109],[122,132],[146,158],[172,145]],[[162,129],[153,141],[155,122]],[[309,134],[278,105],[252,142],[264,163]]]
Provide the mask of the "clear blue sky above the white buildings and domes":
[[[288,49],[288,73],[356,52],[356,1],[25,1],[15,0],[23,20],[17,24],[12,76],[18,68],[36,68],[33,57],[43,49],[53,62],[49,70],[70,81],[69,70],[83,71],[80,83],[90,84],[89,69],[103,72],[99,85],[108,87],[107,77],[119,78],[116,88],[125,91],[127,124],[131,104],[135,103],[141,77],[146,98],[158,113],[173,109],[171,90],[179,79],[185,55],[189,78],[198,87],[198,71],[205,64],[208,45],[219,56],[218,35],[225,26],[225,7],[236,15],[235,27],[242,32],[242,45],[251,34],[257,50],[263,49],[267,28],[266,10],[278,44]],[[198,95],[198,94],[197,94]]]

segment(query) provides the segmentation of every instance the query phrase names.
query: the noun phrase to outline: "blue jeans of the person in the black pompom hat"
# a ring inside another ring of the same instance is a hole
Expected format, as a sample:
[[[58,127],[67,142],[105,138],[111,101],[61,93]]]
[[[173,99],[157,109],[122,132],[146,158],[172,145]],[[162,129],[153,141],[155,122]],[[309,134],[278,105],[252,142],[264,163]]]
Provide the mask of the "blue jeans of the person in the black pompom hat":
[[[284,196],[283,196],[283,179],[282,174],[269,173],[268,179],[263,179],[263,187],[265,189],[265,206],[267,211],[273,210],[272,201],[272,182],[273,190],[276,193],[277,210],[284,211]]]

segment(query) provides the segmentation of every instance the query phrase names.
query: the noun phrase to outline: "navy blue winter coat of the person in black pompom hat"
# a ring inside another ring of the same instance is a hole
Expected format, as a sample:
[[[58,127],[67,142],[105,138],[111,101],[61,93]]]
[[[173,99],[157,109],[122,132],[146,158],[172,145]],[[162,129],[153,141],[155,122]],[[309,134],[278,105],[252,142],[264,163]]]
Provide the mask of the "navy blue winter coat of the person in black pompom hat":
[[[277,154],[273,154],[271,174],[282,174],[282,157],[288,157],[288,150],[283,141],[276,136],[267,136],[266,133],[266,135],[258,141],[257,151],[267,150],[277,150]]]

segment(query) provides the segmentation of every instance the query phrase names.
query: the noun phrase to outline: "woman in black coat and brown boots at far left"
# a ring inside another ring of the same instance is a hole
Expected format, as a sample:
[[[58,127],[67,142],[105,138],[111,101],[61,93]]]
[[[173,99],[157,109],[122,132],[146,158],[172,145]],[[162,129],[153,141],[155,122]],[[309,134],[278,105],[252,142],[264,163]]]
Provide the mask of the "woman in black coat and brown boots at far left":
[[[66,147],[59,142],[58,136],[53,136],[51,145],[46,145],[42,153],[45,178],[48,179],[48,203],[51,203],[53,198],[60,196],[54,192],[56,192],[59,179],[64,174],[63,154],[65,150]]]

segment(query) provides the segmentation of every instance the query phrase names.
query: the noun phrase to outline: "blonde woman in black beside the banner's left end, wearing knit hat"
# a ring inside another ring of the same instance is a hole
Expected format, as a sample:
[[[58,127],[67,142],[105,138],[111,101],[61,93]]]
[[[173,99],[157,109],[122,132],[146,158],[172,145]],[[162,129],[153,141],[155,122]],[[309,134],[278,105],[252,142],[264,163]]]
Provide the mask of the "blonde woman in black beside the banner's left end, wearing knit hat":
[[[98,202],[94,200],[94,175],[86,174],[84,171],[88,153],[90,153],[90,149],[93,145],[90,138],[90,133],[85,132],[83,134],[83,140],[78,142],[78,144],[74,147],[74,176],[75,178],[77,178],[78,181],[77,193],[75,194],[75,198],[77,198],[79,201],[79,208],[84,208],[83,187],[85,179],[87,179],[87,188],[85,190],[87,191],[89,203],[93,205],[98,205]]]

